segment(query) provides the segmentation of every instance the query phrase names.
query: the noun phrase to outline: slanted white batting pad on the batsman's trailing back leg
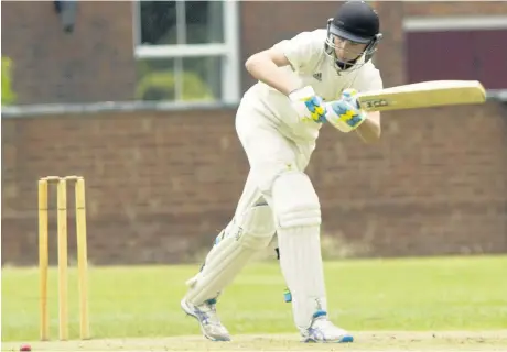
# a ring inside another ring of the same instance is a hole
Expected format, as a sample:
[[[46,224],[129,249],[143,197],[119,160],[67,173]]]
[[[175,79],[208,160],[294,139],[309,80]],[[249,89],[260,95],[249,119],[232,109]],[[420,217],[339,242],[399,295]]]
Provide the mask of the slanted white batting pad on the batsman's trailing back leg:
[[[216,298],[250,258],[269,245],[274,234],[274,218],[268,205],[256,206],[234,219],[217,237],[203,270],[187,280],[186,299],[193,305]]]

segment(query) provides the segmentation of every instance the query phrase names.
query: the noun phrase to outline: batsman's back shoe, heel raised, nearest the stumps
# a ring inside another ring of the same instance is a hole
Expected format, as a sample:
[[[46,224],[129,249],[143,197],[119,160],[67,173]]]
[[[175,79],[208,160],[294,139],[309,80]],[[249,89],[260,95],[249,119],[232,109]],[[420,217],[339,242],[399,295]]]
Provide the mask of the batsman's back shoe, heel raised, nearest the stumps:
[[[216,299],[208,299],[202,305],[194,306],[183,298],[181,306],[188,316],[197,319],[201,331],[206,339],[230,341],[229,331],[222,324],[216,314]]]

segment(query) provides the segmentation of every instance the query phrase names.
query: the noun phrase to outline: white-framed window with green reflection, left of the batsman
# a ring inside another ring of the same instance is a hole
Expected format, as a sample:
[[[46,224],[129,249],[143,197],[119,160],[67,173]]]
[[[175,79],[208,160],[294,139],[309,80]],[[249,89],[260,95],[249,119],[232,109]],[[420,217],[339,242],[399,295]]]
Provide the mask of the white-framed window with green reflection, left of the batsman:
[[[136,1],[139,100],[239,100],[237,1]]]

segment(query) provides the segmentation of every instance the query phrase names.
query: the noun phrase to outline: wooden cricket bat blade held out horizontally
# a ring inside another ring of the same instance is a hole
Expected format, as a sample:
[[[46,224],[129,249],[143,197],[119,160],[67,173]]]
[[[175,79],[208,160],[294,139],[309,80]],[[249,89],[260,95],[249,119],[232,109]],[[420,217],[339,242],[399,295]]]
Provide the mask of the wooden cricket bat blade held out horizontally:
[[[357,102],[366,111],[418,109],[482,103],[486,90],[477,80],[430,80],[359,92]]]

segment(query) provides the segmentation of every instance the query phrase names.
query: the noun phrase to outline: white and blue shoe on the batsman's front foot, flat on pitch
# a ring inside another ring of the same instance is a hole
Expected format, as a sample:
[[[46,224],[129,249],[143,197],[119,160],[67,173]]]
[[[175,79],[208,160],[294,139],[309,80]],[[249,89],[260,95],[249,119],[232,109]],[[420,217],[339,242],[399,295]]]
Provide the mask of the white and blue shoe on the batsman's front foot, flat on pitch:
[[[349,343],[354,341],[352,334],[335,327],[328,319],[325,311],[317,311],[313,315],[310,328],[301,331],[302,342],[320,343]]]

